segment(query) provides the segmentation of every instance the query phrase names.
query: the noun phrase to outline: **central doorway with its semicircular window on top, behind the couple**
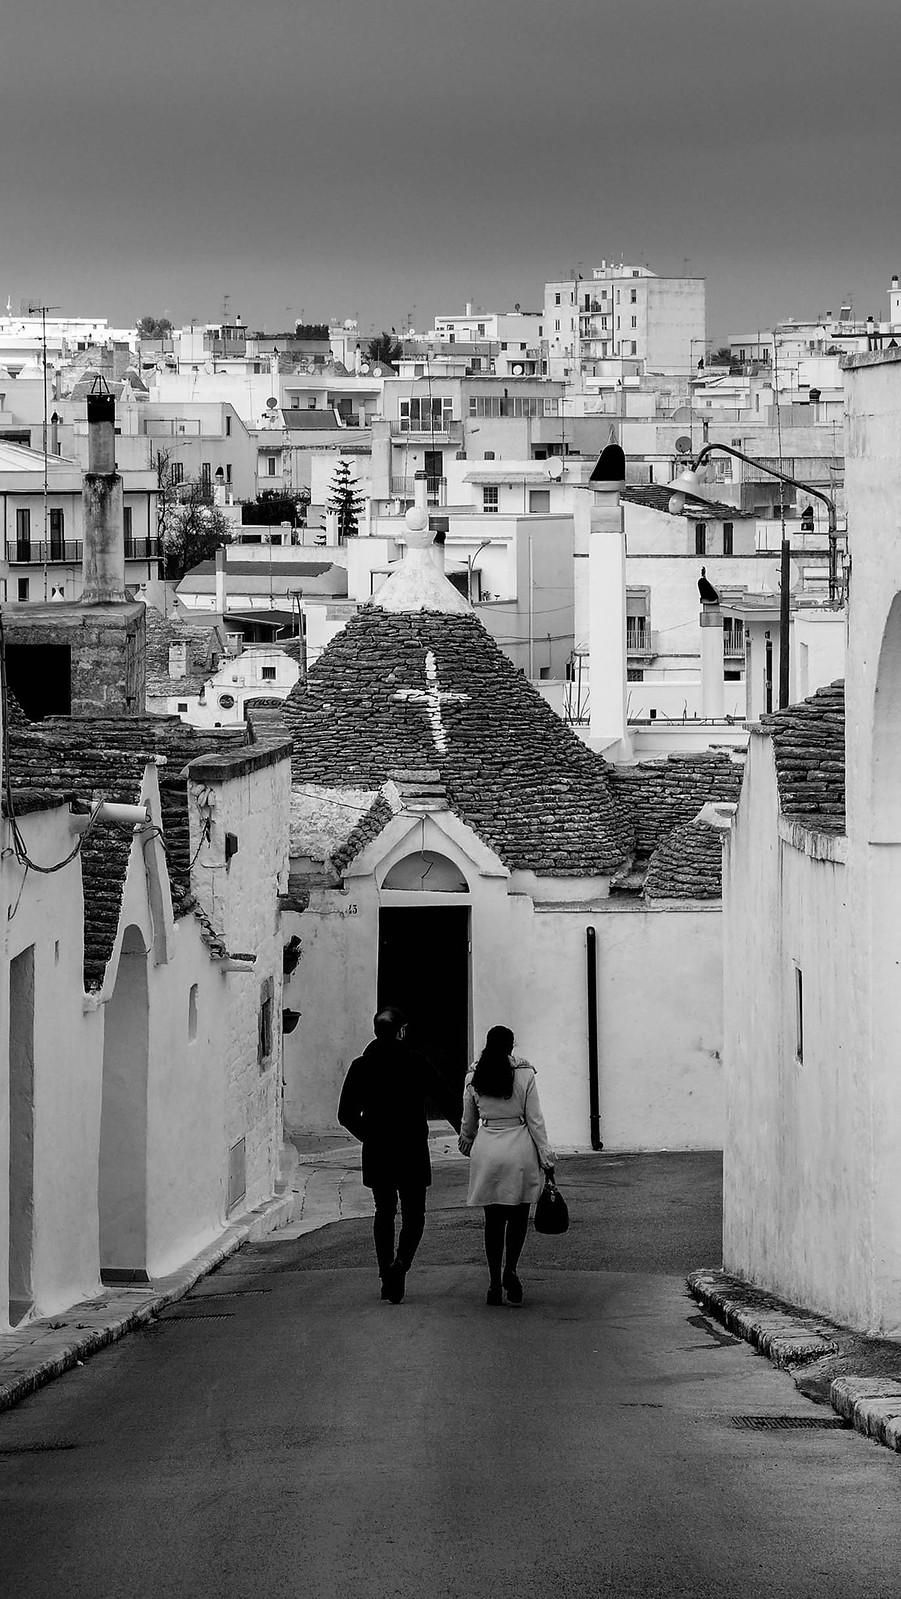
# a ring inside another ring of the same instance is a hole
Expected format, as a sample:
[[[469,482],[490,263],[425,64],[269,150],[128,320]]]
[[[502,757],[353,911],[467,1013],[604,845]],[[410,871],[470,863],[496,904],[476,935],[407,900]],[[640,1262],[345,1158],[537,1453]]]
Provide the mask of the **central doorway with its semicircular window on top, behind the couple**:
[[[381,899],[378,1004],[400,1006],[408,1041],[463,1092],[471,1060],[469,883],[453,860],[424,849],[392,865]]]

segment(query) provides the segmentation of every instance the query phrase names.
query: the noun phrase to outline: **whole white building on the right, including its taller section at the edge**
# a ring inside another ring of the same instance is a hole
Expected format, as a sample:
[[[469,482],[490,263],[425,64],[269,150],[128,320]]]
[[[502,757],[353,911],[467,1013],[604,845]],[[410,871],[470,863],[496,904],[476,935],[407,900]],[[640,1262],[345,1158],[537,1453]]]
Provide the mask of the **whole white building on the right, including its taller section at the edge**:
[[[901,350],[845,389],[845,696],[752,732],[727,847],[725,1265],[898,1337]]]

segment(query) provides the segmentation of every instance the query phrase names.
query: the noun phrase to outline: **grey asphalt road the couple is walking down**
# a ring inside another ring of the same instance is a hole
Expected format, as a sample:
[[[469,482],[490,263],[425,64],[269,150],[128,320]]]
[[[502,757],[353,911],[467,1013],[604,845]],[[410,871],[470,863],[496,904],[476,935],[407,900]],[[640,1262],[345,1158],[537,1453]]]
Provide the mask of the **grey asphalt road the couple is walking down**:
[[[5,1599],[901,1591],[901,1458],[699,1314],[715,1156],[562,1161],[573,1228],[485,1306],[464,1169],[400,1306],[366,1222],[243,1249],[0,1415]]]

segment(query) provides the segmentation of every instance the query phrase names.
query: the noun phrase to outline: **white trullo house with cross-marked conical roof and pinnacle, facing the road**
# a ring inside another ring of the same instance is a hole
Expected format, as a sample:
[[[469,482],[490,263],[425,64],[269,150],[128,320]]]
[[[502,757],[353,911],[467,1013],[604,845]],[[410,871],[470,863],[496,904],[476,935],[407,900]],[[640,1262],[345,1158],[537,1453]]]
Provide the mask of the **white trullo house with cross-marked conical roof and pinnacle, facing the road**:
[[[286,1121],[334,1126],[392,1001],[459,1079],[509,1023],[562,1146],[715,1146],[720,846],[695,819],[735,798],[738,768],[607,766],[438,572],[426,520],[408,513],[403,564],[285,705],[291,894],[309,900],[286,921],[304,950]]]

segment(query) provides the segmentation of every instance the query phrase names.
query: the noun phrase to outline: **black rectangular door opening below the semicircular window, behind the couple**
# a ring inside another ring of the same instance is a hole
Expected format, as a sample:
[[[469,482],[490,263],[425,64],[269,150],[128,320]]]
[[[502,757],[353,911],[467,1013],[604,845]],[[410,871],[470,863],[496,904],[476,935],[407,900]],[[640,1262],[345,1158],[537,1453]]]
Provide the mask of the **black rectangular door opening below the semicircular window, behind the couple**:
[[[379,911],[378,1003],[408,1017],[408,1043],[459,1086],[469,1065],[469,907]],[[442,1115],[438,1107],[430,1113]]]

